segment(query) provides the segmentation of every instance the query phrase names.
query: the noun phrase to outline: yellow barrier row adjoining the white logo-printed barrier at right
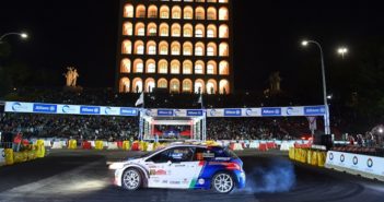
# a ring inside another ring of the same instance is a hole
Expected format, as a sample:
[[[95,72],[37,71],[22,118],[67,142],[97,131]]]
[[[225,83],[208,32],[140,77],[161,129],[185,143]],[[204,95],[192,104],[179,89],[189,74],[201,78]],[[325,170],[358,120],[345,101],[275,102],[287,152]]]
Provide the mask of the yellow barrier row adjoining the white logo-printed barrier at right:
[[[312,148],[290,147],[289,158],[303,164],[324,167],[326,152]]]

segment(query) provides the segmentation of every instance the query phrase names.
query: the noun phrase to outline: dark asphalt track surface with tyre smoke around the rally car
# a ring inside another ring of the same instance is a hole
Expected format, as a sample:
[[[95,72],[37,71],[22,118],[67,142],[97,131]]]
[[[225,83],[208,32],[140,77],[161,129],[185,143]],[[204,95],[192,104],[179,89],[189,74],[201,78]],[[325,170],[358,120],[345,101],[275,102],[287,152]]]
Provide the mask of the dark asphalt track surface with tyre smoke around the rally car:
[[[107,162],[140,153],[51,151],[43,159],[0,167],[0,201],[236,201],[377,202],[384,183],[334,170],[291,163],[280,152],[242,152],[244,190],[218,194],[201,190],[143,189],[128,192],[112,185]]]

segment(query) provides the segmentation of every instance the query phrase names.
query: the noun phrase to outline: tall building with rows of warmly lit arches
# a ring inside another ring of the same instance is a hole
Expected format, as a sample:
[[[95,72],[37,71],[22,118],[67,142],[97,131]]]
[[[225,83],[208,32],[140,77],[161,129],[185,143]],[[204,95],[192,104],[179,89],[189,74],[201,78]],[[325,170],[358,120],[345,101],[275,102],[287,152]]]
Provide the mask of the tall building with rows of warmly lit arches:
[[[233,92],[232,0],[120,0],[120,93]]]

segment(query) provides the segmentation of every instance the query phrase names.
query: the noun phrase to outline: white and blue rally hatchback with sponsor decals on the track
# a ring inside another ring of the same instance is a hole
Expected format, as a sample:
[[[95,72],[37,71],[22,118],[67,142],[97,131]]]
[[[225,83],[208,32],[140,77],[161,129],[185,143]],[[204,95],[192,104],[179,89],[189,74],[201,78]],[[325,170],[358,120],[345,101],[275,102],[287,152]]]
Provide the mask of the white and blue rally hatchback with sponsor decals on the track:
[[[221,146],[171,145],[139,158],[114,163],[114,182],[139,188],[213,189],[229,193],[245,187],[243,162]]]

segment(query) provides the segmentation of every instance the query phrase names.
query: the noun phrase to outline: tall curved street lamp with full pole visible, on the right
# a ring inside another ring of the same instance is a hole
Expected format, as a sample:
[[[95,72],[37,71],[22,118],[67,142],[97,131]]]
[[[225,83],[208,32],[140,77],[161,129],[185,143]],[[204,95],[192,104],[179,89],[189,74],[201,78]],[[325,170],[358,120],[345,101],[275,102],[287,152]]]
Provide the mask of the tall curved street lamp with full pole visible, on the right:
[[[315,44],[321,52],[321,61],[322,61],[322,75],[323,75],[323,98],[324,98],[324,106],[325,106],[325,121],[324,121],[324,132],[325,134],[330,134],[330,128],[329,128],[329,107],[328,107],[328,100],[327,100],[327,86],[325,83],[325,68],[324,68],[324,56],[323,56],[323,48],[319,43],[316,40],[303,40],[302,46],[306,47],[310,44]]]

